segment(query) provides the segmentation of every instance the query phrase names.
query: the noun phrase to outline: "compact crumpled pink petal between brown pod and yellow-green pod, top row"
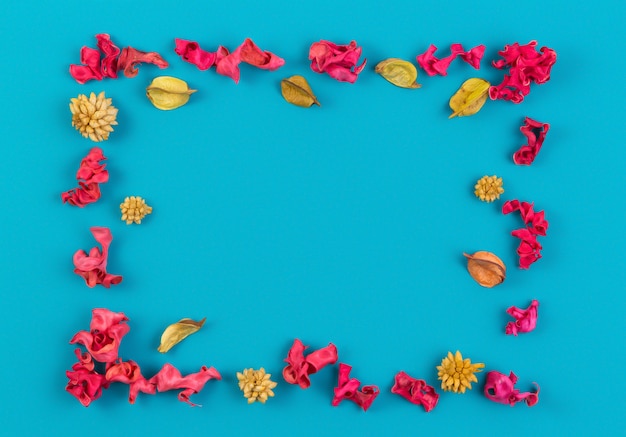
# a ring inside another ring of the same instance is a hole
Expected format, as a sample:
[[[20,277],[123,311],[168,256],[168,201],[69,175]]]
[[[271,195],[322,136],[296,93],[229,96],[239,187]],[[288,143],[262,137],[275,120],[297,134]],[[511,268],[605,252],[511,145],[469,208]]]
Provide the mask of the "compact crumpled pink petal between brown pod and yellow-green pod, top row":
[[[361,51],[362,48],[357,47],[355,41],[350,44],[335,44],[325,40],[315,42],[309,49],[311,69],[316,73],[328,73],[340,82],[354,83],[367,63],[367,59],[364,59],[357,66]]]

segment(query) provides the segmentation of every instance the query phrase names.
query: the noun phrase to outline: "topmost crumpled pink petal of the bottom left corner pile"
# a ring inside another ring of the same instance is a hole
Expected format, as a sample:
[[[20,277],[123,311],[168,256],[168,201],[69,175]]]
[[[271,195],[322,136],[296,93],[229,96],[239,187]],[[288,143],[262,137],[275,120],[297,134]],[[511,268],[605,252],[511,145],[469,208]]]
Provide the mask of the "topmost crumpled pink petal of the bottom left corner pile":
[[[110,363],[117,359],[122,338],[130,331],[124,323],[128,318],[124,313],[114,313],[104,308],[92,311],[89,332],[79,331],[70,344],[82,344],[94,360]]]

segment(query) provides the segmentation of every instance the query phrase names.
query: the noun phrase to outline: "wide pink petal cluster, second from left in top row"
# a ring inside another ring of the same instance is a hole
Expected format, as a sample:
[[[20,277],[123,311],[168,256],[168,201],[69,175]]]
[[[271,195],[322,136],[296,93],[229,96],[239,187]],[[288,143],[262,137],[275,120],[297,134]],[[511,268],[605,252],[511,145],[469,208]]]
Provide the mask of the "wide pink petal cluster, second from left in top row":
[[[208,70],[215,66],[217,73],[228,76],[239,83],[239,64],[250,64],[263,70],[276,70],[285,64],[285,60],[273,53],[261,50],[250,38],[230,53],[227,48],[219,46],[217,51],[208,52],[200,48],[197,42],[175,38],[174,51],[184,61],[200,70]]]

